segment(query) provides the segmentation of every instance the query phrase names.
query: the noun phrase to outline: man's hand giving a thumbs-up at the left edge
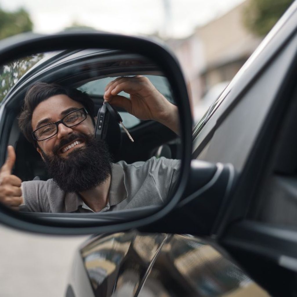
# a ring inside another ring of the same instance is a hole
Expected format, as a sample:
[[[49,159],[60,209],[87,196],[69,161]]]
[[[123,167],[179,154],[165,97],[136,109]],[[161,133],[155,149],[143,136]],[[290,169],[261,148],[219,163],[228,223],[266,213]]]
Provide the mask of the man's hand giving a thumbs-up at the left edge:
[[[11,174],[15,158],[13,146],[8,146],[7,159],[0,170],[0,202],[17,210],[23,203],[23,197],[20,188],[21,179]]]

